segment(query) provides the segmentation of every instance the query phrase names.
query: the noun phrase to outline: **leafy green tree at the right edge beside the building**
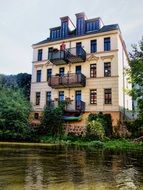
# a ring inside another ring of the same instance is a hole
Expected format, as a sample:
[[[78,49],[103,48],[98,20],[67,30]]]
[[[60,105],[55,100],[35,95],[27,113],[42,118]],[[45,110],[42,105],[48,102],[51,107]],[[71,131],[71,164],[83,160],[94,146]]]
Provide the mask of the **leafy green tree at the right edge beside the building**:
[[[130,53],[130,68],[128,68],[128,81],[133,85],[128,93],[138,103],[138,118],[143,120],[143,38],[137,45],[132,46]]]

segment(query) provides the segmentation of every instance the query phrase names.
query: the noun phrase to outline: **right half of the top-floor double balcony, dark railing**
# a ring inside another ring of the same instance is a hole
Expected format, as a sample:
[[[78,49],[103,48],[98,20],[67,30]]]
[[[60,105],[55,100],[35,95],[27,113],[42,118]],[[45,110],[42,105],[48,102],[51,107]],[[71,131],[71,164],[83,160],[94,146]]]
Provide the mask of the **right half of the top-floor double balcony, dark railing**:
[[[86,61],[86,52],[82,47],[69,48],[67,50],[67,60],[70,63],[79,63]]]

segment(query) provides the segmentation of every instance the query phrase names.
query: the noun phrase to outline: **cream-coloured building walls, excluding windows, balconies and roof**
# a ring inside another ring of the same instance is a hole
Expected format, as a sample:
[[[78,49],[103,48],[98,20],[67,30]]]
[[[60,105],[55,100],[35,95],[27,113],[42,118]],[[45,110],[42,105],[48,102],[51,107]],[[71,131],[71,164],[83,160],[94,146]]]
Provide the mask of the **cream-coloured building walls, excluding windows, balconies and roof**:
[[[111,49],[104,51],[104,38],[110,38]],[[97,51],[90,52],[91,40],[97,41]],[[85,113],[90,112],[112,112],[120,113],[125,109],[132,109],[132,100],[125,95],[126,77],[124,68],[128,66],[128,57],[120,30],[100,32],[84,36],[64,39],[66,48],[76,47],[77,42],[81,42],[86,51],[86,61],[79,63],[69,63],[66,65],[55,65],[48,60],[48,48],[60,49],[63,40],[51,41],[48,43],[33,45],[33,66],[31,102],[34,112],[41,112],[46,105],[46,92],[51,91],[51,99],[55,100],[59,96],[59,91],[64,91],[64,98],[75,100],[75,91],[81,90],[81,100],[85,102]],[[37,61],[38,50],[42,49],[42,60]],[[104,63],[111,63],[111,76],[104,76]],[[96,64],[96,78],[90,77],[90,65]],[[47,69],[52,69],[52,75],[59,73],[59,68],[64,67],[65,74],[75,73],[76,66],[81,66],[81,73],[86,76],[85,87],[54,89],[48,86]],[[37,70],[41,70],[41,81],[36,82]],[[91,104],[90,90],[97,91],[97,104]],[[111,89],[112,103],[105,104],[104,89]],[[36,105],[36,92],[40,92],[40,104]],[[114,115],[113,115],[114,117]],[[116,118],[118,119],[118,117]]]

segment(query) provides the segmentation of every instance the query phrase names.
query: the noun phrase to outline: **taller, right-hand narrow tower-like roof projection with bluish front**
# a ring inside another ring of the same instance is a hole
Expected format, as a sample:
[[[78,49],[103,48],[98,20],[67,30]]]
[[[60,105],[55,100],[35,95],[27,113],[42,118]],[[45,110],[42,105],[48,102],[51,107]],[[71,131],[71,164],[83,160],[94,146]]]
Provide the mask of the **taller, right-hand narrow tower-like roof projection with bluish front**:
[[[76,15],[76,35],[82,35],[85,33],[85,18],[84,12],[77,13]]]

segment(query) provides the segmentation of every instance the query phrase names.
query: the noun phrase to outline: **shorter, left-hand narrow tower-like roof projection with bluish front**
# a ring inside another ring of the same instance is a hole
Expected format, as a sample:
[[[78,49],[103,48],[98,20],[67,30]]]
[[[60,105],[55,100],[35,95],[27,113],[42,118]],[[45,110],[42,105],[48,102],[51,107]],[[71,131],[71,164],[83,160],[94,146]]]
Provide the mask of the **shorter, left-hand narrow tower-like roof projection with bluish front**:
[[[61,37],[66,38],[68,37],[69,33],[69,17],[61,17]]]

